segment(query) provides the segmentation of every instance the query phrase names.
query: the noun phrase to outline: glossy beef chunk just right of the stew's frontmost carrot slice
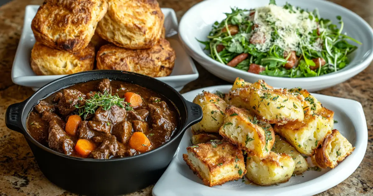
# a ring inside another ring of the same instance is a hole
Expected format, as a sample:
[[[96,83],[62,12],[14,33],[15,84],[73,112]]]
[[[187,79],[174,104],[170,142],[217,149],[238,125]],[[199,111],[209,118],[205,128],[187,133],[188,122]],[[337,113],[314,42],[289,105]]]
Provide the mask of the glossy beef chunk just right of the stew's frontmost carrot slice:
[[[111,156],[115,156],[116,152],[118,151],[118,143],[115,136],[98,136],[93,137],[92,140],[101,144],[91,152],[90,158],[109,159]]]

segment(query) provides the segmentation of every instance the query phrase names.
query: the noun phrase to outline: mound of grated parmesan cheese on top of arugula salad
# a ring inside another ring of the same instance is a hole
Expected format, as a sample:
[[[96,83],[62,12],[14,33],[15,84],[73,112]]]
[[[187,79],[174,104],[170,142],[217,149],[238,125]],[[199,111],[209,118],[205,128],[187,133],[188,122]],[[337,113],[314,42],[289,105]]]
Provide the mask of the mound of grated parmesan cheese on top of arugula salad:
[[[310,19],[310,17],[312,19]],[[250,18],[257,25],[253,36],[264,37],[264,43],[256,44],[260,52],[268,52],[273,45],[284,51],[301,52],[300,45],[307,46],[313,50],[321,50],[321,42],[309,44],[310,33],[318,28],[314,16],[308,12],[300,12],[292,7],[292,10],[269,4],[258,7],[254,17]],[[322,29],[320,29],[321,32]],[[277,33],[276,39],[272,34]]]

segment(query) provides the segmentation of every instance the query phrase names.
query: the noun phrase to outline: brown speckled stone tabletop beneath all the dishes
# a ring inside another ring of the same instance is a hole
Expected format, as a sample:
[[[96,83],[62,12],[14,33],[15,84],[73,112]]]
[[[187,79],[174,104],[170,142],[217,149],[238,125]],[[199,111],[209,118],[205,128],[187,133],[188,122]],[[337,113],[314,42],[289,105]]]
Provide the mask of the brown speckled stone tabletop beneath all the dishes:
[[[62,196],[74,195],[50,183],[41,173],[22,134],[5,126],[4,114],[7,106],[29,97],[31,88],[12,83],[10,72],[23,25],[25,6],[41,4],[43,0],[13,0],[0,7],[0,195]],[[171,7],[178,19],[198,0],[159,0],[161,7]],[[373,24],[373,0],[333,0]],[[358,29],[357,29],[358,30]],[[185,93],[201,87],[228,84],[204,70],[197,62],[200,73],[182,90]],[[369,140],[363,162],[342,183],[318,194],[318,196],[373,195],[373,67],[370,66],[354,78],[335,87],[319,91],[330,96],[354,99],[363,105],[367,119]],[[151,195],[153,186],[129,194]],[[307,191],[307,190],[305,190]]]

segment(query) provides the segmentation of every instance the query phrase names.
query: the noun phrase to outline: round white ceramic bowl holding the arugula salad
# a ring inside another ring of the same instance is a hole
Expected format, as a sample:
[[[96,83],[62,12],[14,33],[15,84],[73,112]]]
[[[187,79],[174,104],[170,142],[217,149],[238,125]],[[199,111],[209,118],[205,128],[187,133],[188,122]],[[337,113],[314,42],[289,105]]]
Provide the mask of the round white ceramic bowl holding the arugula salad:
[[[236,77],[241,77],[249,82],[255,82],[263,79],[270,85],[281,87],[293,87],[294,84],[307,89],[308,91],[317,91],[342,83],[354,75],[363,71],[373,59],[373,30],[360,16],[354,12],[339,6],[330,1],[324,0],[276,0],[277,5],[284,5],[286,2],[300,6],[301,8],[314,10],[319,9],[320,16],[338,24],[336,16],[340,15],[344,21],[342,32],[359,40],[363,45],[351,54],[351,62],[340,71],[311,78],[279,78],[266,75],[258,75],[239,69],[235,69],[215,61],[207,56],[204,46],[198,40],[206,41],[207,35],[211,31],[211,26],[215,21],[222,21],[226,16],[224,13],[231,13],[231,7],[241,9],[251,9],[265,6],[269,0],[264,1],[244,1],[244,0],[205,0],[194,5],[182,17],[179,25],[179,37],[184,44],[187,52],[197,60],[205,69],[223,80],[233,82]],[[358,30],[357,30],[358,29]],[[351,43],[355,44],[355,43]],[[356,45],[356,44],[355,44]]]

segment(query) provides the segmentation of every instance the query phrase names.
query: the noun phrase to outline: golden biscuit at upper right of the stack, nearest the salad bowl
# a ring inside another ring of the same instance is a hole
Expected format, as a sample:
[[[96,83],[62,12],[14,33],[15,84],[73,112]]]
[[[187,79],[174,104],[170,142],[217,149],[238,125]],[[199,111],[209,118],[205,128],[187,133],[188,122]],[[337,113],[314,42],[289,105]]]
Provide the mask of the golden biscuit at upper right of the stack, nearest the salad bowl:
[[[96,32],[127,49],[148,49],[162,33],[164,15],[156,0],[107,0],[108,9]]]

